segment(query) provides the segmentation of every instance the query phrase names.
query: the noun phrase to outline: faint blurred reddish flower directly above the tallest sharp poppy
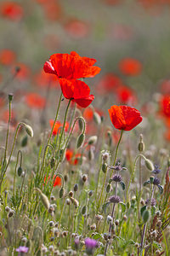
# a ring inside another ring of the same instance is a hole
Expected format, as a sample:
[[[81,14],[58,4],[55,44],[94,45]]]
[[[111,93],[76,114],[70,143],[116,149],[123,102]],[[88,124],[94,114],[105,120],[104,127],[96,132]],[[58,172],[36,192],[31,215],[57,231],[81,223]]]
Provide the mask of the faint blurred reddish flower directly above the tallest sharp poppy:
[[[88,35],[88,24],[82,20],[69,20],[65,24],[65,31],[69,33],[72,38],[85,38]]]

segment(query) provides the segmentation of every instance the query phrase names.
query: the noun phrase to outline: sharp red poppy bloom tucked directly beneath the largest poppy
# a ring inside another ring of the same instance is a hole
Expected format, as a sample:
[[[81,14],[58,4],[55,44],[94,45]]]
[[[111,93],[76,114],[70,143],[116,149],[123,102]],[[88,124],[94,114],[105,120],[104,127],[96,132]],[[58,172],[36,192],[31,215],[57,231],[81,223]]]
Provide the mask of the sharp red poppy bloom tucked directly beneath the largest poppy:
[[[70,99],[82,108],[87,108],[94,101],[94,95],[90,95],[88,84],[80,80],[59,79],[61,90],[66,99]]]

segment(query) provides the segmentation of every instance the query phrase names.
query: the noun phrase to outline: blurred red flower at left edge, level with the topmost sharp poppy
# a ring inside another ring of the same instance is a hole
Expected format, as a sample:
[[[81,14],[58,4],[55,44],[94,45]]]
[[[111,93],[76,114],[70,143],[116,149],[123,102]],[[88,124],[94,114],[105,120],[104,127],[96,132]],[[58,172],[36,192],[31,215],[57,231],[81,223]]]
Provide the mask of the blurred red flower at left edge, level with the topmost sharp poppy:
[[[16,55],[11,49],[2,49],[0,51],[0,63],[4,66],[10,66],[14,63]]]

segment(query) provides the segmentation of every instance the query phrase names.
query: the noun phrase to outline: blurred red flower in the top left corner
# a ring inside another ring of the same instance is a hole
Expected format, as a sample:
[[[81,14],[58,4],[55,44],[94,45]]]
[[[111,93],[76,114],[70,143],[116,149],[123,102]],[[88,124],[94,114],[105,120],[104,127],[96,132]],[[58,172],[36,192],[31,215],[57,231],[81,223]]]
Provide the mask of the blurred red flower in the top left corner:
[[[13,1],[4,1],[0,5],[1,15],[9,20],[19,21],[24,15],[24,11],[19,3]]]

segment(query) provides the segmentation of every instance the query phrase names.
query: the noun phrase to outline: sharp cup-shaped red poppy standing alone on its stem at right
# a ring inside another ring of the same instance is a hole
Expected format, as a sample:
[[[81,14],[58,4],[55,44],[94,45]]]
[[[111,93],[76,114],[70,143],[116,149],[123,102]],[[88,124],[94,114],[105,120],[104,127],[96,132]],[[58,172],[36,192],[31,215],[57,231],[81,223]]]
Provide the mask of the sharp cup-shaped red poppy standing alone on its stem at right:
[[[136,108],[113,105],[108,111],[112,124],[118,130],[131,131],[142,121],[142,117]]]

